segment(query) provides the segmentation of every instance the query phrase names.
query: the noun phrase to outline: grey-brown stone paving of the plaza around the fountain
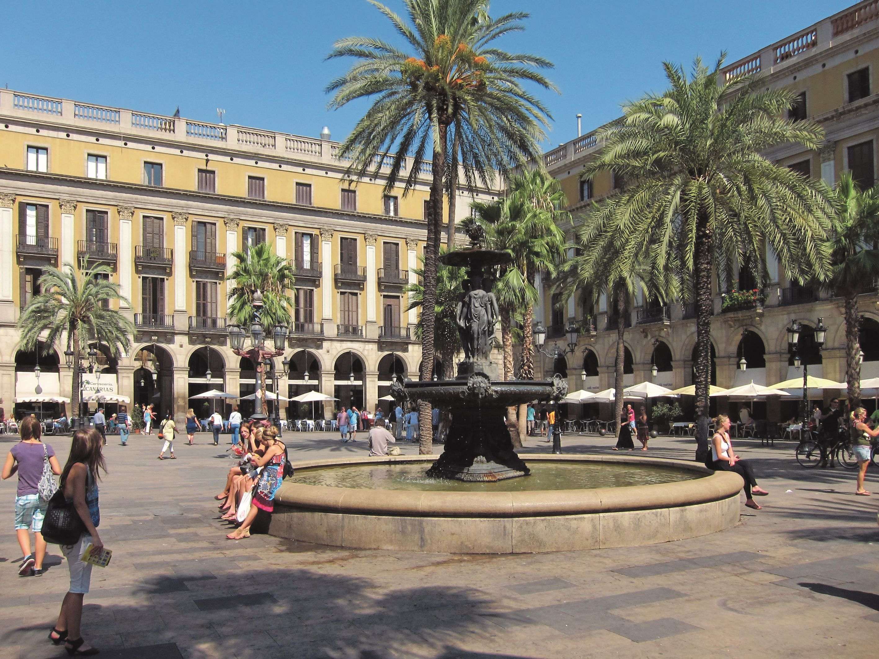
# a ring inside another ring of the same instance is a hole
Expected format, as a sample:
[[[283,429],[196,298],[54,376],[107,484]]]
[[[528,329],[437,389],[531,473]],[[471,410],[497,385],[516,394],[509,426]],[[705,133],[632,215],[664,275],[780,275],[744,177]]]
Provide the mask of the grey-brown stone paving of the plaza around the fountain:
[[[367,453],[329,433],[285,439],[292,460]],[[63,464],[69,438],[47,441]],[[570,453],[612,444],[563,438]],[[854,473],[803,470],[792,444],[736,446],[770,490],[764,510],[743,505],[737,527],[650,547],[493,556],[225,540],[212,496],[228,445],[199,435],[160,462],[155,435],[125,448],[110,438],[99,529],[113,562],[92,572],[84,636],[100,656],[126,659],[873,655],[879,474],[868,474],[876,496],[854,496]],[[531,451],[548,444],[531,439]],[[659,438],[648,453],[692,454],[690,438]],[[14,496],[15,478],[0,484],[0,657],[66,656],[46,634],[67,567],[50,545],[44,576],[17,576]]]

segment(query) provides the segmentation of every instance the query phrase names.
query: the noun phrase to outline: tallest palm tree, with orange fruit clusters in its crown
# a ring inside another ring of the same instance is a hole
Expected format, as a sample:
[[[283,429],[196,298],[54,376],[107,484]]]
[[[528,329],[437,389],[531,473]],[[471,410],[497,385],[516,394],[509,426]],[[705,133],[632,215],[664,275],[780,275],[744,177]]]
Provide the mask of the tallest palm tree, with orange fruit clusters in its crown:
[[[538,159],[549,113],[522,83],[555,89],[535,70],[552,65],[534,55],[505,53],[493,43],[523,29],[520,21],[527,13],[490,19],[485,16],[487,0],[405,0],[406,21],[371,2],[402,35],[408,51],[375,38],[338,40],[329,57],[360,62],[332,81],[327,91],[335,92],[333,108],[374,98],[338,151],[339,157],[351,159],[348,171],[354,179],[378,177],[384,156],[393,153],[385,189],[393,190],[408,169],[408,193],[422,165],[427,166],[428,149],[432,152],[420,374],[421,380],[431,380],[449,127],[454,125],[461,153],[468,154],[472,170],[485,185],[495,171],[505,176],[514,165]],[[419,406],[421,437],[430,437],[430,406]]]

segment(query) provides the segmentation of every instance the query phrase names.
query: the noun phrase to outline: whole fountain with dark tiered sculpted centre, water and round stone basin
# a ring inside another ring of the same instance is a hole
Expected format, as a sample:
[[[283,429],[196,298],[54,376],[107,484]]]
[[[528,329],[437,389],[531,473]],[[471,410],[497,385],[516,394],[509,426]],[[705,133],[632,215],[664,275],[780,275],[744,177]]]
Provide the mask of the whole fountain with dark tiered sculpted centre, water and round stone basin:
[[[451,413],[445,450],[295,462],[296,475],[275,496],[269,532],[337,547],[515,554],[632,547],[737,524],[743,482],[731,472],[643,456],[533,453],[530,465],[519,458],[506,408],[558,401],[567,383],[498,379],[490,275],[509,256],[483,249],[473,225],[468,233],[471,247],[444,257],[468,269],[456,377],[392,387],[398,400]]]

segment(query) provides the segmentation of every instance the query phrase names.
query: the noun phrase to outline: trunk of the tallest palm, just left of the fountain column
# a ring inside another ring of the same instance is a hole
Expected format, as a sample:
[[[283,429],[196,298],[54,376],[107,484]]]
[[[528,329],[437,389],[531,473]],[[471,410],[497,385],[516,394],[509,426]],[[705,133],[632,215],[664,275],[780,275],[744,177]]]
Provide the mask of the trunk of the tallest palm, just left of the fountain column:
[[[439,122],[439,139],[433,144],[433,180],[431,182],[430,214],[427,218],[427,244],[425,245],[425,287],[421,305],[421,381],[433,378],[433,360],[436,354],[434,322],[437,301],[437,252],[439,228],[442,225],[443,175],[446,171],[447,124]],[[433,453],[431,404],[418,401],[418,453]]]

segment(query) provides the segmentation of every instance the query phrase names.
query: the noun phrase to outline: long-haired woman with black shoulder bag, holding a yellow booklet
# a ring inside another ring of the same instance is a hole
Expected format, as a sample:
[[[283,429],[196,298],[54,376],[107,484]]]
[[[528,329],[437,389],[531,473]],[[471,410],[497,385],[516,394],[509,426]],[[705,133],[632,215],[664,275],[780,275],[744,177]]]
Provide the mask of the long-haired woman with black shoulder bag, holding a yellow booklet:
[[[98,535],[101,520],[98,507],[98,469],[106,472],[106,462],[101,453],[102,439],[94,428],[78,430],[70,442],[70,456],[61,474],[61,490],[64,498],[72,502],[76,513],[83,520],[85,532],[75,545],[61,548],[70,570],[70,588],[61,605],[61,612],[49,641],[55,645],[64,643],[69,655],[97,655],[98,650],[85,645],[80,630],[83,620],[83,597],[89,591],[91,563],[82,560],[85,548],[104,547]]]

